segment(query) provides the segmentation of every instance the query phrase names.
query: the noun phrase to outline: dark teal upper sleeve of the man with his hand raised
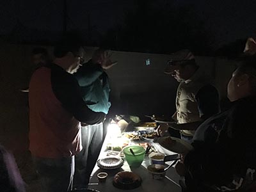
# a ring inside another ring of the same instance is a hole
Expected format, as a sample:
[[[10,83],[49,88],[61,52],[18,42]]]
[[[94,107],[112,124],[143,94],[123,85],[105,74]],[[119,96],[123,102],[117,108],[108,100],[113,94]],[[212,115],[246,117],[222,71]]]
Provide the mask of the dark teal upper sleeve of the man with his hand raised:
[[[104,70],[99,64],[84,63],[79,70],[74,74],[79,86],[88,86],[98,79]]]

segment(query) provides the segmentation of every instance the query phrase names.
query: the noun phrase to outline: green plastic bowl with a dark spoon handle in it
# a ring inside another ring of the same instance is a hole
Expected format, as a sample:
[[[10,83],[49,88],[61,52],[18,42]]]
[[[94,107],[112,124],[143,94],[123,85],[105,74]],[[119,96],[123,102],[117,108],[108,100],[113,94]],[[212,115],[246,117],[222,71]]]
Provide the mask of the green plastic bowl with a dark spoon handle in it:
[[[132,154],[131,152],[134,154]],[[127,161],[127,163],[129,164],[129,166],[131,167],[139,167],[145,157],[145,149],[141,146],[138,145],[131,145],[131,146],[127,146],[123,149],[124,155],[125,155],[125,159]]]

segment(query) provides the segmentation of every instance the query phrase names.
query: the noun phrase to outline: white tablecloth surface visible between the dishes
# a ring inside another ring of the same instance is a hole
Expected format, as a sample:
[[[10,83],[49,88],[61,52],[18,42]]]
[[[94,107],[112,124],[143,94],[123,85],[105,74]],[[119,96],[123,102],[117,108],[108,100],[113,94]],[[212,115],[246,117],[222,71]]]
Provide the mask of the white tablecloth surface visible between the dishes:
[[[106,139],[102,145],[102,150],[100,152],[99,159],[106,156],[106,145],[109,143],[109,136],[107,134]],[[153,143],[154,147],[159,151],[163,152],[166,155],[171,155],[173,152],[170,152],[169,150],[164,149],[161,147],[158,143]],[[113,177],[116,173],[121,172],[123,170],[125,171],[132,171],[134,173],[137,173],[141,177],[141,186],[136,189],[128,190],[131,192],[137,192],[137,191],[145,191],[145,192],[180,192],[181,188],[179,186],[179,175],[175,172],[175,169],[172,167],[166,172],[166,177],[162,180],[156,180],[152,179],[152,174],[147,171],[147,166],[150,164],[150,160],[147,155],[145,155],[145,159],[141,166],[139,168],[130,168],[127,162],[125,161],[124,166],[120,169],[116,170],[102,170],[97,165],[95,165],[95,168],[92,172],[92,177],[90,179],[90,183],[88,188],[90,189],[97,189],[100,192],[118,192],[118,191],[124,191],[122,189],[117,189],[113,186]],[[108,177],[106,179],[106,182],[99,182],[97,179],[97,173],[99,172],[107,172]]]

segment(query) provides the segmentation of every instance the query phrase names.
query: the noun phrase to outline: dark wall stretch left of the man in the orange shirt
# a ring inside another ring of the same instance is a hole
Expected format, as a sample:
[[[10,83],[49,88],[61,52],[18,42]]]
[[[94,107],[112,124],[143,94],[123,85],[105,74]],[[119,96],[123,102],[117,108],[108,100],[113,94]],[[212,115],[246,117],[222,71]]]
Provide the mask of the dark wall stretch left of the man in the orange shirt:
[[[0,143],[21,153],[28,148],[28,93],[20,88],[28,86],[31,51],[38,46],[0,42]]]

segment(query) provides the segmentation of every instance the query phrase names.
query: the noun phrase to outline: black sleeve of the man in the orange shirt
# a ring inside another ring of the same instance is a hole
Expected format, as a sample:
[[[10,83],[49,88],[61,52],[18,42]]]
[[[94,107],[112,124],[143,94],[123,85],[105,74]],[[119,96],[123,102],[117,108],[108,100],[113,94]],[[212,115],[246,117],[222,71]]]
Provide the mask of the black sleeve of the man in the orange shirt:
[[[63,108],[67,109],[80,122],[97,124],[104,121],[106,115],[89,109],[80,93],[80,87],[71,74],[52,70],[52,90]]]

